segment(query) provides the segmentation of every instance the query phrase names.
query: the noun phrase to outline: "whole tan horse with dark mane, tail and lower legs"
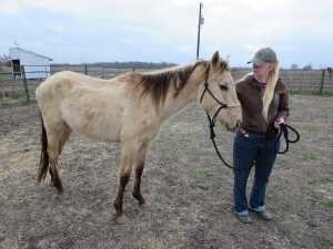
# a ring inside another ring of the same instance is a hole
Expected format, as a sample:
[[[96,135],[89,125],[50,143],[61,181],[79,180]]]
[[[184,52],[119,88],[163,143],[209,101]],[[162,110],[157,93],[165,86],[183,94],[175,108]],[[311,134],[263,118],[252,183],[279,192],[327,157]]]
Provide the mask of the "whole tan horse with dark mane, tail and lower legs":
[[[140,190],[141,176],[150,144],[168,118],[195,101],[231,132],[238,128],[242,115],[229,59],[222,60],[219,51],[210,61],[196,60],[148,73],[133,71],[111,80],[59,72],[38,86],[36,97],[42,126],[37,180],[43,181],[49,170],[59,195],[64,189],[58,159],[72,132],[121,144],[113,200],[118,224],[129,222],[122,201],[132,172],[133,197],[141,207],[150,206]]]

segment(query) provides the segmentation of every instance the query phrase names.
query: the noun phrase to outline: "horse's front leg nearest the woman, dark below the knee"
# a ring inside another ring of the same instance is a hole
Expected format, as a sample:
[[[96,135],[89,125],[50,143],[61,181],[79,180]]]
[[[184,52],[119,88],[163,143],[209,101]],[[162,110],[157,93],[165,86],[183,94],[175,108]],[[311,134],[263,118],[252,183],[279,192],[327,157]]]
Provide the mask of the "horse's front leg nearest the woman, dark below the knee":
[[[143,167],[144,167],[144,160],[145,160],[145,155],[149,148],[150,143],[145,143],[141,145],[141,148],[139,149],[139,155],[137,163],[134,164],[134,183],[133,183],[133,188],[132,188],[132,195],[134,196],[135,199],[138,199],[139,205],[141,207],[150,207],[150,204],[147,201],[145,198],[143,198],[140,189],[141,185],[141,176],[143,173]]]

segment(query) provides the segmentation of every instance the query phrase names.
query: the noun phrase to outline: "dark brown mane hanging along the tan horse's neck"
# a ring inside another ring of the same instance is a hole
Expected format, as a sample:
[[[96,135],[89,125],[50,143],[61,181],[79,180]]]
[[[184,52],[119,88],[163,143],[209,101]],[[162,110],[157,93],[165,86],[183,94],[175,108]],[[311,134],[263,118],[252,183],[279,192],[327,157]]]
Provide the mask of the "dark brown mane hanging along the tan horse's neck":
[[[199,65],[206,65],[205,61],[198,61],[195,64],[185,68],[168,70],[160,73],[140,74],[140,85],[142,85],[142,96],[151,94],[153,102],[159,105],[163,103],[170,85],[174,86],[174,96],[176,96],[186,85],[191,74]]]

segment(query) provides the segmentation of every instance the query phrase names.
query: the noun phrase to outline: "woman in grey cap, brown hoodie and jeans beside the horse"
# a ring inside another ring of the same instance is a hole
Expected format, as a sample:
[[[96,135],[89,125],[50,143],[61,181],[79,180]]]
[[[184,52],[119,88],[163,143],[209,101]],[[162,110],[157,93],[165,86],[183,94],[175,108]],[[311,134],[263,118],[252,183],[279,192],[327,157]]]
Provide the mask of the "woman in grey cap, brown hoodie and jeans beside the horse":
[[[236,83],[238,97],[242,105],[241,129],[233,143],[234,162],[234,212],[243,222],[251,222],[249,210],[262,219],[271,215],[264,207],[266,184],[276,158],[274,148],[276,131],[289,116],[289,94],[279,75],[279,61],[271,48],[260,49],[252,63],[252,74]],[[280,148],[280,141],[276,149]],[[246,183],[254,165],[254,180],[246,199]]]

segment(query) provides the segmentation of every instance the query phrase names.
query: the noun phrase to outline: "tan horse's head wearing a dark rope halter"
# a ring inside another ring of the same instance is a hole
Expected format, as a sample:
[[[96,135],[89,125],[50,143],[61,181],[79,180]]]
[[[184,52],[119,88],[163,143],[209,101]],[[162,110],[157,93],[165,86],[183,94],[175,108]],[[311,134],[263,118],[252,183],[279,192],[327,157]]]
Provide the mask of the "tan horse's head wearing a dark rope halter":
[[[212,122],[218,121],[228,131],[235,131],[241,123],[242,111],[228,63],[228,60],[221,60],[219,52],[213,54],[198,98]]]

